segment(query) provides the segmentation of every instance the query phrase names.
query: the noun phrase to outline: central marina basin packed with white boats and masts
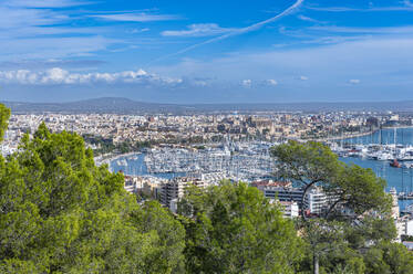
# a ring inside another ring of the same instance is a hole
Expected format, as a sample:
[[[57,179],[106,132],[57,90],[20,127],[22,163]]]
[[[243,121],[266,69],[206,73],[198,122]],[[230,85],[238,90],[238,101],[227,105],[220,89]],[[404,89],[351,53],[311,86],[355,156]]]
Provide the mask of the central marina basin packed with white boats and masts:
[[[271,143],[228,143],[216,148],[156,148],[111,162],[114,171],[174,178],[194,173],[224,172],[233,180],[254,181],[272,176]]]

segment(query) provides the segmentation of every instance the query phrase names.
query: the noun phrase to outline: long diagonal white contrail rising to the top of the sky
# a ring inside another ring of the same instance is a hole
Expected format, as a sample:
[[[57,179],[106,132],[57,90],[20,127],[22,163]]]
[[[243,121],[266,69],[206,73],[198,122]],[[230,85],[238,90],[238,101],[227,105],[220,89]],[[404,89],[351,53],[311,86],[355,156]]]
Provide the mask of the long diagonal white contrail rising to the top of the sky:
[[[168,59],[168,57],[172,57],[172,56],[176,56],[176,55],[179,55],[179,54],[183,54],[185,52],[188,52],[188,51],[192,51],[196,48],[199,48],[202,45],[206,45],[206,44],[210,44],[210,43],[214,43],[214,42],[217,42],[217,41],[221,41],[221,40],[225,40],[227,38],[231,38],[231,36],[236,36],[236,35],[240,35],[240,34],[244,34],[244,33],[247,33],[247,32],[251,32],[251,31],[256,31],[256,30],[259,30],[260,28],[262,28],[264,25],[266,24],[269,24],[269,23],[272,23],[273,21],[277,21],[278,19],[281,19],[283,18],[285,15],[288,15],[290,12],[292,12],[295,9],[297,9],[298,7],[300,7],[302,4],[304,0],[297,0],[297,2],[295,4],[292,4],[291,7],[289,7],[287,10],[282,11],[280,14],[273,17],[273,18],[270,18],[270,19],[267,19],[265,21],[261,21],[261,22],[258,22],[258,23],[255,23],[255,24],[251,24],[249,27],[246,27],[246,28],[241,28],[241,29],[238,29],[238,30],[235,30],[235,31],[231,31],[227,34],[224,34],[224,35],[220,35],[220,36],[217,36],[217,38],[213,38],[213,39],[209,39],[205,42],[202,42],[202,43],[198,43],[198,44],[194,44],[194,45],[190,45],[188,48],[185,48],[178,52],[175,52],[175,53],[172,53],[172,54],[168,54],[168,55],[165,55],[165,56],[162,56],[162,57],[158,57],[154,61],[152,61],[151,63],[153,62],[156,62],[156,61],[159,61],[159,60],[164,60],[164,59]]]

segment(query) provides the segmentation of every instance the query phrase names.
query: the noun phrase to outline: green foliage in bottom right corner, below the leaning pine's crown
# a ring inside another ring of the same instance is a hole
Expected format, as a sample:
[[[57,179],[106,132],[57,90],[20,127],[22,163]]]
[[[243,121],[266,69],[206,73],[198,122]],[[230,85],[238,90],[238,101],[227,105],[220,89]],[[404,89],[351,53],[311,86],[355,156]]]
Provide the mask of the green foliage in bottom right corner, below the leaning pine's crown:
[[[392,242],[395,231],[390,224],[392,220],[374,218],[360,225],[309,220],[301,230],[306,257],[300,272],[310,273],[319,260],[320,273],[413,273],[413,254]]]

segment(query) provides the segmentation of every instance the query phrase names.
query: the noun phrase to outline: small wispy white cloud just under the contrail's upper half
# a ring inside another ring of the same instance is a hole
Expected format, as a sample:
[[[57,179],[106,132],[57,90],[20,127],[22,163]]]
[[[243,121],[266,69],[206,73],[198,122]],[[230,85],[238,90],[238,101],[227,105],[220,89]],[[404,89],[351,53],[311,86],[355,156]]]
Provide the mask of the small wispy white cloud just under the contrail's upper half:
[[[161,34],[164,36],[210,36],[235,31],[236,29],[221,28],[215,23],[204,23],[204,24],[190,24],[187,30],[180,31],[163,31]]]

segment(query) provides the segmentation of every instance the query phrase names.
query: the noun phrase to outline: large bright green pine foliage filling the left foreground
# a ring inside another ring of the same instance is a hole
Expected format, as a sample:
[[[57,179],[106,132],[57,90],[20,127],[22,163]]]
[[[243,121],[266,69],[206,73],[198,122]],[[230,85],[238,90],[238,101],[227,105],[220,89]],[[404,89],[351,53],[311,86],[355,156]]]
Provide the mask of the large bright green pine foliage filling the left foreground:
[[[0,272],[173,273],[185,231],[159,204],[140,207],[121,173],[96,167],[83,139],[40,125],[0,158]]]

